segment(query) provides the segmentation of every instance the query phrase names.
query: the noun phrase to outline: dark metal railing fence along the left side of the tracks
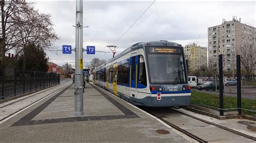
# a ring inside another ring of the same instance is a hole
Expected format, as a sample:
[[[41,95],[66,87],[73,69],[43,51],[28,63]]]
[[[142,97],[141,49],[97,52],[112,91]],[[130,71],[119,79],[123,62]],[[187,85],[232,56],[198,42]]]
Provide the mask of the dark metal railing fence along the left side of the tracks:
[[[60,83],[56,73],[0,67],[0,99],[51,87]]]

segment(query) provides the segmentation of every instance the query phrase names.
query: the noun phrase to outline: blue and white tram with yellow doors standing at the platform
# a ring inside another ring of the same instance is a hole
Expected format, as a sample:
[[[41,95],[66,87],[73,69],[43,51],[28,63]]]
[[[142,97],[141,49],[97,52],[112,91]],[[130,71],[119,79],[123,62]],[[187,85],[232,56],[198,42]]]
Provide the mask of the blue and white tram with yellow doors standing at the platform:
[[[93,71],[99,87],[134,105],[190,104],[184,49],[170,41],[139,42]]]

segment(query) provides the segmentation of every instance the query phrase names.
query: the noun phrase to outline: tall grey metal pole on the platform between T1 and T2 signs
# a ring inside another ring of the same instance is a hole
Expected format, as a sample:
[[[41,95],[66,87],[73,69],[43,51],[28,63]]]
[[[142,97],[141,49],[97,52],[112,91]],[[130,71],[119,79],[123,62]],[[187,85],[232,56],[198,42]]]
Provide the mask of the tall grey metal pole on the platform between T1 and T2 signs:
[[[83,108],[83,0],[76,0],[76,70],[75,116],[84,114]]]

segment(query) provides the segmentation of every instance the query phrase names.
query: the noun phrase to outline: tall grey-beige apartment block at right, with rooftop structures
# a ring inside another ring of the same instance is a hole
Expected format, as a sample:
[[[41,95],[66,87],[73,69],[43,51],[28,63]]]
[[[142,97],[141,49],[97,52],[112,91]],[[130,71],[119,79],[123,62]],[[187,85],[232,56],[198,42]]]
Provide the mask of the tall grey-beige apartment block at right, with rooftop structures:
[[[219,54],[224,55],[224,69],[235,68],[235,56],[241,55],[241,48],[256,47],[256,28],[241,23],[241,19],[226,22],[223,19],[221,25],[208,27],[208,60],[218,66]]]

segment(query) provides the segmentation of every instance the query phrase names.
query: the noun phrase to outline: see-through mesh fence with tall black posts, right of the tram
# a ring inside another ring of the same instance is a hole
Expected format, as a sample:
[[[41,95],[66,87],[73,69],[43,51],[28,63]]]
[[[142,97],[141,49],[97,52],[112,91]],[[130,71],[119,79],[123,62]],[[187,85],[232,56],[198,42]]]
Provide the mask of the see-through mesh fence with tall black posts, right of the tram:
[[[194,89],[191,103],[218,110],[220,116],[228,115],[228,112],[256,116],[255,71],[247,71],[241,65],[240,55],[227,59],[224,55],[219,55],[216,78],[214,75],[210,78],[210,82],[217,85],[218,90]]]

